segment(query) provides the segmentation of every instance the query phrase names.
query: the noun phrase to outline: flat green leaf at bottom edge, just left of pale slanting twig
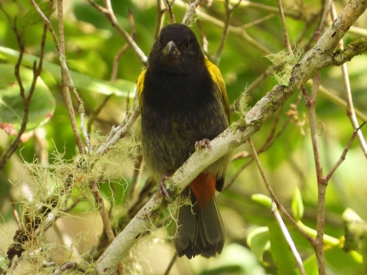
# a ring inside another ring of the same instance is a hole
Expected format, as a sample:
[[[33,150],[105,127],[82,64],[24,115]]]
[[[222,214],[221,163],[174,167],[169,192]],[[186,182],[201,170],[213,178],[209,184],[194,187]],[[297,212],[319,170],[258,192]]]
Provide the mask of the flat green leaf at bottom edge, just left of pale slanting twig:
[[[289,249],[286,238],[280,230],[277,222],[268,224],[270,236],[270,251],[274,261],[279,268],[279,274],[297,274],[296,263],[291,250]]]

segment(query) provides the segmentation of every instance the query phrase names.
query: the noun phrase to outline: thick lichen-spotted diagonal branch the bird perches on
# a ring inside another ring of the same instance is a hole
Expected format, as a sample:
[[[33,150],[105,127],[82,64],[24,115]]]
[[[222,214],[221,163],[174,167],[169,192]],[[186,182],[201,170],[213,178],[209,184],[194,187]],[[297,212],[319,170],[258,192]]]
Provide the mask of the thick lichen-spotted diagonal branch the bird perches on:
[[[298,90],[301,84],[320,70],[335,65],[335,47],[366,8],[367,1],[351,0],[315,46],[293,67],[288,86],[277,84],[273,87],[244,117],[211,141],[210,151],[193,153],[173,174],[171,183],[166,186],[172,198],[175,198],[207,166],[237,148],[257,132],[261,125]],[[359,51],[354,51],[354,53],[355,55],[360,54]],[[119,261],[137,242],[141,234],[151,227],[152,220],[155,220],[167,203],[167,200],[157,192],[98,259],[94,274],[112,274]]]

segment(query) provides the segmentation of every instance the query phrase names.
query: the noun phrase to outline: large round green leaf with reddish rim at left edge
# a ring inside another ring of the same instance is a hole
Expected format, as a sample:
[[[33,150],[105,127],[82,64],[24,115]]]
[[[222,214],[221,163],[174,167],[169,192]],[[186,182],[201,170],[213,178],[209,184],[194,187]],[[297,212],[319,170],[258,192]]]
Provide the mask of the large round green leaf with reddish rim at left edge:
[[[25,95],[29,94],[33,71],[21,68],[19,72]],[[16,134],[23,118],[23,101],[14,75],[14,66],[0,64],[0,127],[8,134]],[[55,99],[46,84],[39,77],[30,101],[27,131],[46,123],[54,113]]]

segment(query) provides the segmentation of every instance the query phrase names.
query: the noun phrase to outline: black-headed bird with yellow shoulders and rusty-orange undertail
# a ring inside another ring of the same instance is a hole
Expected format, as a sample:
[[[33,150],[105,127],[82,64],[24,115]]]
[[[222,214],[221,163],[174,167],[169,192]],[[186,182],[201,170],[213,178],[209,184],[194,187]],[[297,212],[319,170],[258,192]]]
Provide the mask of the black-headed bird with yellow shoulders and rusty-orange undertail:
[[[147,169],[164,183],[195,150],[229,126],[220,70],[203,54],[195,33],[171,23],[161,29],[137,80],[141,147]],[[221,192],[231,155],[201,172],[179,196],[172,243],[179,257],[209,258],[222,252],[226,229],[215,190]]]

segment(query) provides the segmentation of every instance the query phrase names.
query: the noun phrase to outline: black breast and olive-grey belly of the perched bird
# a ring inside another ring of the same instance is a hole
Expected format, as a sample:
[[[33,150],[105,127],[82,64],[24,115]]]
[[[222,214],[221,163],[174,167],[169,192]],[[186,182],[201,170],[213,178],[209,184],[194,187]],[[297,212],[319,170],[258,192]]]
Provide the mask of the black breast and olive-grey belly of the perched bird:
[[[209,77],[209,78],[208,78]],[[142,147],[151,170],[176,170],[195,151],[195,141],[212,139],[228,122],[210,76],[153,77],[142,92]]]

